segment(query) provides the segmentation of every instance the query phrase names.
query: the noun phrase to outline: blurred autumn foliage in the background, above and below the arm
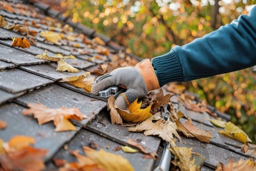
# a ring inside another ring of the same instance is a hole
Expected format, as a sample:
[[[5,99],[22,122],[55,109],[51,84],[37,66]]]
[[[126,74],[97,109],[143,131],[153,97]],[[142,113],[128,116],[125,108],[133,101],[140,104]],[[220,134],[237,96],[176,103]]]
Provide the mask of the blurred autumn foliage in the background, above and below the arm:
[[[255,0],[63,0],[74,22],[81,22],[153,58],[247,14]],[[255,73],[242,70],[186,83],[209,104],[232,115],[256,143]],[[249,117],[250,116],[250,117]]]

